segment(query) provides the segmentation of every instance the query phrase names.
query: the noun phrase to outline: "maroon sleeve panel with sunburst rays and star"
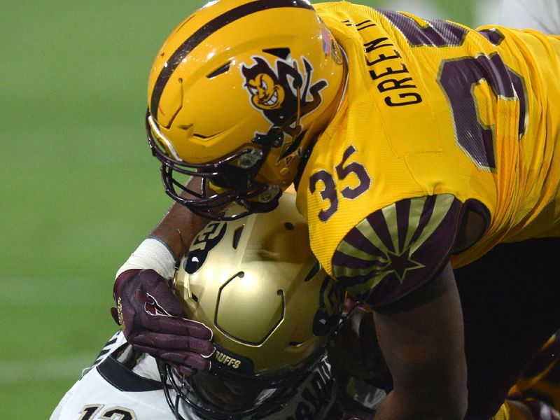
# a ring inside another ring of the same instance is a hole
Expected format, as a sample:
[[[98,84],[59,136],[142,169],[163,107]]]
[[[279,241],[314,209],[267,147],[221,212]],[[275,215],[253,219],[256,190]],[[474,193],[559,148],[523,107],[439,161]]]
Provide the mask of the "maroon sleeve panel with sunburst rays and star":
[[[400,200],[352,228],[332,256],[339,283],[372,307],[426,283],[453,251],[463,203],[441,194]]]

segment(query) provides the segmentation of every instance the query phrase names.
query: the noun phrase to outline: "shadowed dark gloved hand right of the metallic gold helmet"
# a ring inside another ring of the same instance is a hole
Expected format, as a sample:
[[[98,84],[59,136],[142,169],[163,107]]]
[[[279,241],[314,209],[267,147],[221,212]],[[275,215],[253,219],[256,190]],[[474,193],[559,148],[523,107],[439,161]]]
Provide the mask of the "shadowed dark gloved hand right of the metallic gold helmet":
[[[377,342],[373,312],[360,304],[342,320],[327,349],[336,375],[375,379],[388,373]]]

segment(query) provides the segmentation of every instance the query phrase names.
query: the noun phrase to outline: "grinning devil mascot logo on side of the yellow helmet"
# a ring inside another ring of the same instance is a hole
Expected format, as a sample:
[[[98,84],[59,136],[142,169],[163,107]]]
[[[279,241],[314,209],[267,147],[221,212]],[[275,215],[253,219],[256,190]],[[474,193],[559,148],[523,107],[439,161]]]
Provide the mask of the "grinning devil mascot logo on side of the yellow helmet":
[[[253,60],[253,66],[241,67],[244,87],[251,95],[251,104],[272,123],[267,134],[255,133],[255,137],[281,139],[283,148],[279,159],[286,158],[288,165],[290,155],[301,153],[299,147],[305,134],[301,120],[321,104],[320,92],[327,82],[318,80],[311,84],[313,67],[304,57],[304,74],[300,73],[295,60],[290,65],[277,59],[275,70],[262,57],[253,57]]]

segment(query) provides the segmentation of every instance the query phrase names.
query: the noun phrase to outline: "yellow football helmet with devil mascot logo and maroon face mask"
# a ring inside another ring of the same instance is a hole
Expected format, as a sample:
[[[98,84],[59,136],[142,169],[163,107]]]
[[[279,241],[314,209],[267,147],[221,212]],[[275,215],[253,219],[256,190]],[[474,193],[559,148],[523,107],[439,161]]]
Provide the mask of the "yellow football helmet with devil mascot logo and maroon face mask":
[[[167,194],[218,220],[274,209],[339,106],[345,75],[342,50],[307,0],[197,10],[148,80],[146,132]],[[202,193],[183,176],[199,177]],[[225,214],[232,202],[241,207]]]

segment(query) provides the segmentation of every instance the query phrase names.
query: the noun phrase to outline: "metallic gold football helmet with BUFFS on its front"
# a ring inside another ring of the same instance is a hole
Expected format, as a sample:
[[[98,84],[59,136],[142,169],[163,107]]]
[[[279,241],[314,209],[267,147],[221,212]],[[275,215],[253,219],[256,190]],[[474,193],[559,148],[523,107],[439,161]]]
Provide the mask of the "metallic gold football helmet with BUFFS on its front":
[[[270,213],[209,223],[181,261],[176,295],[214,332],[216,352],[209,372],[168,376],[202,418],[279,407],[325,355],[344,295],[311,253],[294,201],[286,193]]]

